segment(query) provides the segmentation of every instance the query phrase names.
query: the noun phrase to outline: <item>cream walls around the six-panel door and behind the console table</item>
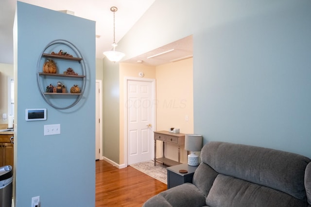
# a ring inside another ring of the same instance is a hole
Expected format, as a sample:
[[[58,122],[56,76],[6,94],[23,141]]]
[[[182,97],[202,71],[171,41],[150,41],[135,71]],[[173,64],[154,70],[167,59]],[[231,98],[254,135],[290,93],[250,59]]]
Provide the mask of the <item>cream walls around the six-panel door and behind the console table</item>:
[[[120,64],[120,164],[124,163],[124,80],[125,77],[156,80],[156,130],[180,128],[181,133],[193,133],[193,59],[160,66]],[[188,116],[188,121],[185,117]],[[158,149],[162,149],[160,142]],[[177,160],[177,147],[167,145],[165,156]],[[157,157],[162,156],[160,152]],[[181,162],[187,162],[187,152],[181,149]]]

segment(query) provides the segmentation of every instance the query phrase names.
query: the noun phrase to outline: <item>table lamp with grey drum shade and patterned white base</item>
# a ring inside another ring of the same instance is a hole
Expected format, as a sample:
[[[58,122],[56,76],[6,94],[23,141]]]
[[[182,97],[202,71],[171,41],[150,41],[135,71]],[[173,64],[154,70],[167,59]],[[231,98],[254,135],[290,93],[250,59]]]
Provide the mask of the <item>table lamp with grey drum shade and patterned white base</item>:
[[[191,152],[190,155],[188,155],[188,165],[199,165],[199,156],[194,154],[194,152],[201,151],[202,149],[202,135],[186,134],[185,149]]]

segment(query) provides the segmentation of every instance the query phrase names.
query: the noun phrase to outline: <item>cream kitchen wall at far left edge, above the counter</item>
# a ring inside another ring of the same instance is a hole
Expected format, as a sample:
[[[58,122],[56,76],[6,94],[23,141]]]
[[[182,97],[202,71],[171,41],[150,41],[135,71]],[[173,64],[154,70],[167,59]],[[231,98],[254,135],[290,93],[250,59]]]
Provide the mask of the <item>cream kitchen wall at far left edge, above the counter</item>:
[[[0,63],[0,124],[7,124],[2,120],[2,114],[8,112],[8,77],[14,77],[13,64]]]

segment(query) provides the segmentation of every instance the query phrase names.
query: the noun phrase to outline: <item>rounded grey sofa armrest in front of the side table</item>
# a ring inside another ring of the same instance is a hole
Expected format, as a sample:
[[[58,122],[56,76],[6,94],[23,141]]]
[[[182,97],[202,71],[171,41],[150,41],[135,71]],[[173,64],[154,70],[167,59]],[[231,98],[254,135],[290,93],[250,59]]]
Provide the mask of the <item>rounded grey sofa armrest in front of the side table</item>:
[[[192,183],[184,183],[150,198],[143,207],[202,207],[205,196]]]

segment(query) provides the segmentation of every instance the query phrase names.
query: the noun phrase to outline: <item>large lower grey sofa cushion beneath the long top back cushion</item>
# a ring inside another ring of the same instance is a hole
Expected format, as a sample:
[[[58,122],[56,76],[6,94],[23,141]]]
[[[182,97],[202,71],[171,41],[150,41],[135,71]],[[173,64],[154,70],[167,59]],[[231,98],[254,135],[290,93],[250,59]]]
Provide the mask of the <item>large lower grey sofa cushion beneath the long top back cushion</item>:
[[[302,207],[307,202],[287,193],[219,174],[207,199],[210,207]]]

